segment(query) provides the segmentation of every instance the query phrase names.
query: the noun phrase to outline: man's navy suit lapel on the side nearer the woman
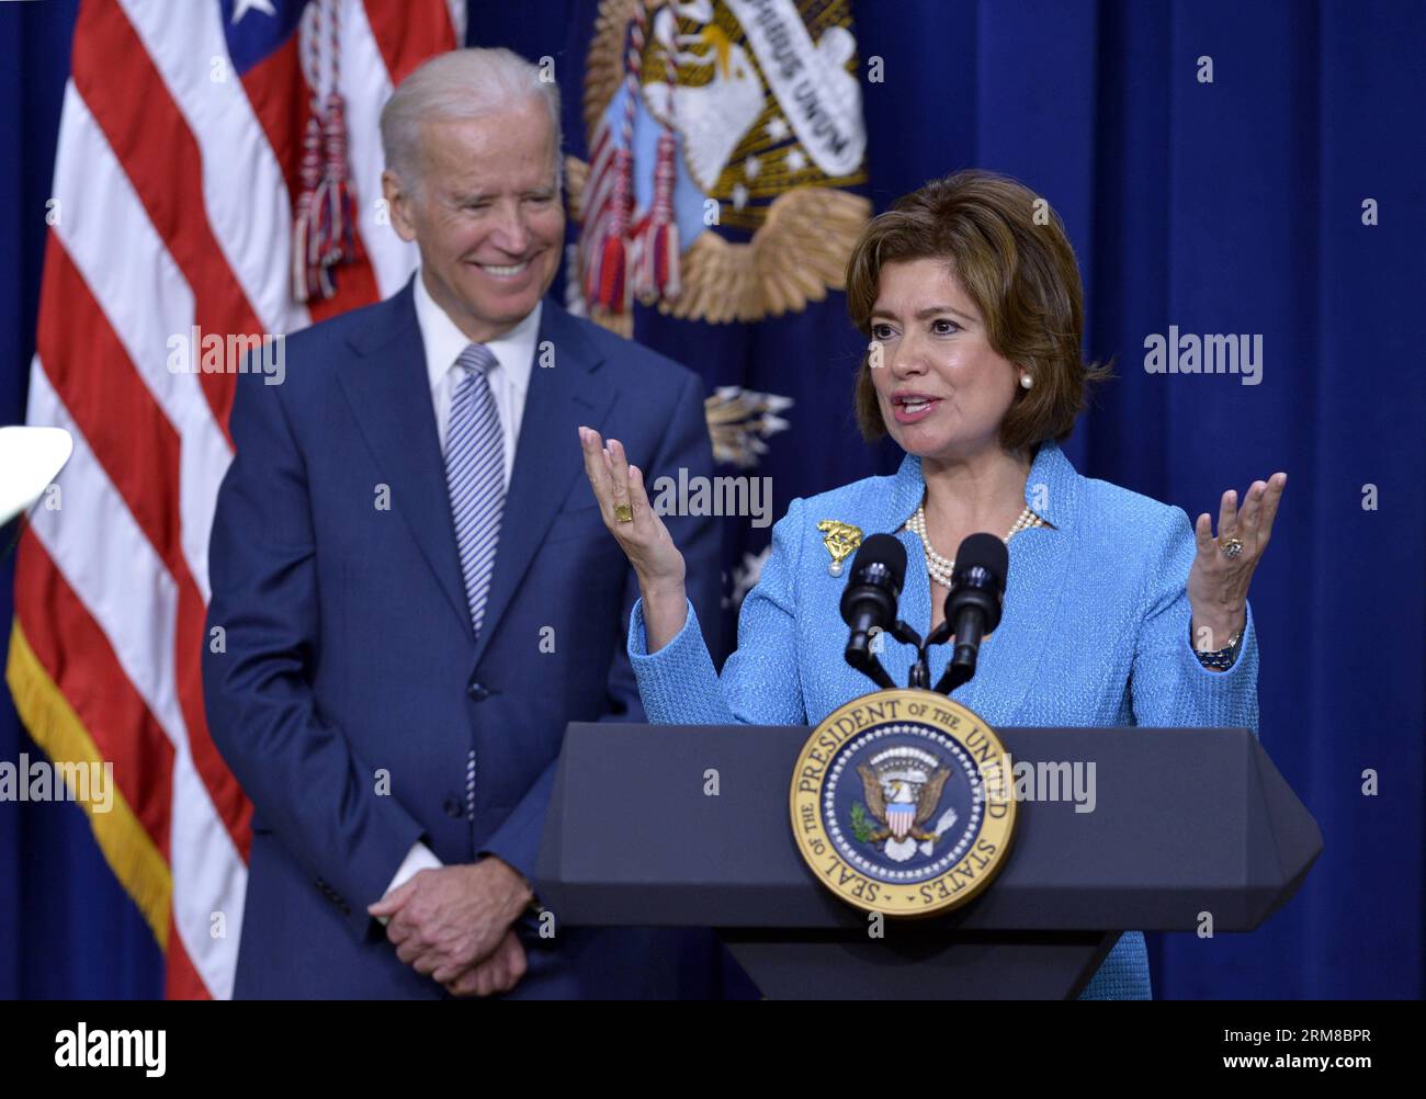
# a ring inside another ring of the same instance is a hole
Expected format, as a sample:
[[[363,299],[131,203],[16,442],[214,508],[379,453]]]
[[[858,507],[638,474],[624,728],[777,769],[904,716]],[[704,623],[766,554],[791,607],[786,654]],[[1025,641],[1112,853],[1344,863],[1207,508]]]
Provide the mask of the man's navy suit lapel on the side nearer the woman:
[[[546,346],[546,341],[553,349],[552,366],[540,365],[540,348]],[[509,609],[559,505],[575,479],[583,476],[576,429],[582,423],[600,428],[613,406],[616,393],[607,383],[600,386],[596,378],[602,362],[593,341],[569,314],[546,298],[515,446],[515,469],[505,495],[491,594],[475,644],[475,663],[479,663]]]

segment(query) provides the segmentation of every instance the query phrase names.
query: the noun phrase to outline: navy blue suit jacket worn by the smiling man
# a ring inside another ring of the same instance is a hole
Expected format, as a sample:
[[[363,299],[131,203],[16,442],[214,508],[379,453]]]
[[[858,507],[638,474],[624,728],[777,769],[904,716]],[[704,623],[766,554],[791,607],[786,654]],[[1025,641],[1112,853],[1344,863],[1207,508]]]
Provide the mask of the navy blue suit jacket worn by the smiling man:
[[[235,995],[442,996],[366,905],[418,840],[442,862],[488,852],[533,879],[566,723],[645,720],[623,629],[637,586],[576,426],[620,439],[650,482],[712,475],[702,385],[545,301],[478,640],[412,284],[291,336],[285,382],[240,376],[231,423],[204,694],[254,804]],[[713,623],[716,527],[665,522]],[[515,995],[680,991],[672,932],[556,922],[553,939],[522,939]]]

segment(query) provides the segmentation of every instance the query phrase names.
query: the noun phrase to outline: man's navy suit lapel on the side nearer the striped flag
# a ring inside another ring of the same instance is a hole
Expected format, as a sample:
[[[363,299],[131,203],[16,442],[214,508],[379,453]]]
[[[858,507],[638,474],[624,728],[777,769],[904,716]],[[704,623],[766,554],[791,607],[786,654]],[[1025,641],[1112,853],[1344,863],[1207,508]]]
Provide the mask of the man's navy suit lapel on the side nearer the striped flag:
[[[456,556],[414,285],[408,282],[378,305],[372,322],[349,338],[356,355],[338,372],[338,382],[376,469],[391,486],[391,509],[411,529],[451,610],[469,633],[471,610]]]

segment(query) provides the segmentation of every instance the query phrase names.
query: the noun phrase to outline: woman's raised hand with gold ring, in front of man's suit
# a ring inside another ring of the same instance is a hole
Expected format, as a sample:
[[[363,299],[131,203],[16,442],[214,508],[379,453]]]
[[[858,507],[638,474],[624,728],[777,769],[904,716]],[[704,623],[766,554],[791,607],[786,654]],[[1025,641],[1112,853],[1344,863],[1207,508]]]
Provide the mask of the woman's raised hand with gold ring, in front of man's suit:
[[[629,557],[645,602],[659,599],[683,610],[683,554],[663,520],[649,505],[639,466],[630,466],[623,443],[599,438],[593,428],[579,429],[579,445],[585,452],[585,473],[599,500],[599,513]],[[623,520],[620,520],[623,516]],[[649,639],[649,651],[655,650]]]

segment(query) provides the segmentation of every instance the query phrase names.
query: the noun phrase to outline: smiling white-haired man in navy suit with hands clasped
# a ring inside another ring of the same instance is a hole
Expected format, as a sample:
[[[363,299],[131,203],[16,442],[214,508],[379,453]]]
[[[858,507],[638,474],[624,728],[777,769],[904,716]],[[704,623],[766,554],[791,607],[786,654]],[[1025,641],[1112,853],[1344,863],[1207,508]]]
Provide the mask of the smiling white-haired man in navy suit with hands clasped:
[[[686,937],[563,928],[530,882],[566,723],[643,720],[576,429],[706,476],[702,386],[543,299],[565,220],[533,66],[434,58],[382,144],[421,269],[232,411],[204,688],[254,804],[235,994],[676,995]],[[714,621],[716,529],[669,526]]]

